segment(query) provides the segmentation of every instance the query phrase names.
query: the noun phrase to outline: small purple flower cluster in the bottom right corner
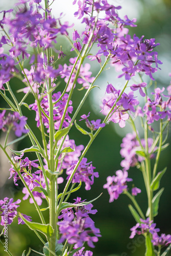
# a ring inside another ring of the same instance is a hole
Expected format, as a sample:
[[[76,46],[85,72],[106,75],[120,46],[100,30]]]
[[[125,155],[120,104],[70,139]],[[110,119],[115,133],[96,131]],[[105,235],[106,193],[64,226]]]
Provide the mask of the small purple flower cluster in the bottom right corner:
[[[149,221],[149,218],[146,220],[140,219],[141,223],[137,223],[134,227],[131,228],[131,236],[130,238],[134,238],[136,234],[146,234],[151,233],[153,236],[152,243],[155,246],[167,246],[171,243],[171,235],[170,234],[161,234],[161,236],[158,235],[158,232],[160,231],[159,228],[156,227],[156,223],[153,223],[153,221]]]

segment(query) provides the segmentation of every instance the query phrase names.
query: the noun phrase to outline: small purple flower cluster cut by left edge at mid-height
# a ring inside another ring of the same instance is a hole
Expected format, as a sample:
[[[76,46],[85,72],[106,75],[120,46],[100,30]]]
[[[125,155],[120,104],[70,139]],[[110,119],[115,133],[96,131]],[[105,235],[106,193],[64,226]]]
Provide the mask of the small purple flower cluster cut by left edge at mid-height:
[[[8,129],[12,129],[17,137],[22,136],[22,133],[28,133],[28,130],[25,129],[27,117],[20,116],[18,112],[8,113],[7,116],[5,113],[5,110],[0,113],[0,130],[6,132]]]

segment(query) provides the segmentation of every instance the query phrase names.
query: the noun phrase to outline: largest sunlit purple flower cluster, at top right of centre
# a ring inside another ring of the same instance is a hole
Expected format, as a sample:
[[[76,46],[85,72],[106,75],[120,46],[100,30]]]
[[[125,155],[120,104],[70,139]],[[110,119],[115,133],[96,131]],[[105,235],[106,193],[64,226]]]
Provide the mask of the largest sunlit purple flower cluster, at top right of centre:
[[[159,44],[155,43],[154,38],[144,39],[144,36],[139,38],[136,35],[131,38],[128,34],[129,29],[125,26],[135,27],[136,19],[130,20],[126,15],[121,19],[117,13],[120,8],[110,5],[108,1],[95,2],[93,6],[91,1],[83,1],[83,3],[78,1],[78,11],[75,12],[75,16],[78,19],[84,16],[82,23],[86,24],[86,30],[74,37],[75,48],[81,49],[77,40],[81,39],[82,44],[86,44],[93,34],[91,42],[98,42],[97,46],[100,48],[93,56],[93,60],[97,59],[100,63],[100,56],[103,54],[111,58],[111,63],[117,70],[122,70],[119,77],[125,76],[126,80],[130,80],[136,73],[144,72],[154,80],[152,74],[157,71],[158,64],[162,63],[157,58],[157,52],[153,51]],[[104,12],[103,19],[96,20],[95,15],[99,12]],[[156,67],[152,67],[153,63]]]

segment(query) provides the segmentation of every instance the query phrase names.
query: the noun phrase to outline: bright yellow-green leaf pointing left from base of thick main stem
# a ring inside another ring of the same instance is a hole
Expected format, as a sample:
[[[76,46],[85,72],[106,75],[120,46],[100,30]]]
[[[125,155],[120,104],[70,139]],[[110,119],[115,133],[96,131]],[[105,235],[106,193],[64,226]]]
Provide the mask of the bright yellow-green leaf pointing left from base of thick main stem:
[[[18,212],[19,217],[25,222],[25,224],[31,229],[31,230],[37,230],[40,231],[41,233],[45,234],[46,238],[49,239],[52,234],[53,234],[53,228],[49,224],[41,224],[37,222],[32,222],[26,220],[20,212]]]

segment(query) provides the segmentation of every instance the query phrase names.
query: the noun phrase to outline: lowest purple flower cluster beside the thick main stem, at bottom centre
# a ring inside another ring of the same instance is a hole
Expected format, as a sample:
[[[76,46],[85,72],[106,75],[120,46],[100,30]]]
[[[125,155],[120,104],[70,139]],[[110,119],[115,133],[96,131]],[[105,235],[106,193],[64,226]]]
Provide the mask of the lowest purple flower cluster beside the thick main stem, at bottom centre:
[[[73,208],[62,210],[62,214],[58,217],[59,220],[63,219],[58,222],[61,234],[59,243],[68,240],[69,244],[82,247],[83,243],[87,242],[90,247],[94,248],[93,243],[97,242],[101,235],[89,214],[96,214],[97,210],[92,210],[92,204],[79,206],[83,202],[81,198],[77,198],[75,201],[74,210]]]

